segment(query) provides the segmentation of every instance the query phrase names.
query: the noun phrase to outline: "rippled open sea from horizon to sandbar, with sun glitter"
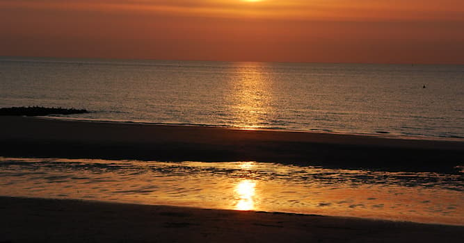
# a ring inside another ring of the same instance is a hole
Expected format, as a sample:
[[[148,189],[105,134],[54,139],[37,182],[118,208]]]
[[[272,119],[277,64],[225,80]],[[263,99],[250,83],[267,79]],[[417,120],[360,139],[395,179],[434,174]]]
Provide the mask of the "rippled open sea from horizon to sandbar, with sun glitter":
[[[425,85],[425,88],[424,88]],[[0,107],[68,118],[464,138],[463,65],[0,58]]]

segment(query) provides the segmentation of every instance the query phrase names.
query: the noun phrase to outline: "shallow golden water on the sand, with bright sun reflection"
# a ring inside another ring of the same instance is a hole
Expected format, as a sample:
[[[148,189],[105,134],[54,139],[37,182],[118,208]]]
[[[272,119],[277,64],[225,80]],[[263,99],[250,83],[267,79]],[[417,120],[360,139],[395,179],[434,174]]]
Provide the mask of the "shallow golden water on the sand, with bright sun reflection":
[[[462,173],[0,157],[0,195],[464,225]]]

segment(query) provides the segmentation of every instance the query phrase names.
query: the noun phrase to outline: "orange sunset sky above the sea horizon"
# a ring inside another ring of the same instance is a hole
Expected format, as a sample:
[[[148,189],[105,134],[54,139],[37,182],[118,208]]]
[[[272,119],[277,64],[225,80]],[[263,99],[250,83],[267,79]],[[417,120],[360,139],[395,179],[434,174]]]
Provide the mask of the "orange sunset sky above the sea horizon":
[[[464,64],[463,0],[0,0],[0,56]]]

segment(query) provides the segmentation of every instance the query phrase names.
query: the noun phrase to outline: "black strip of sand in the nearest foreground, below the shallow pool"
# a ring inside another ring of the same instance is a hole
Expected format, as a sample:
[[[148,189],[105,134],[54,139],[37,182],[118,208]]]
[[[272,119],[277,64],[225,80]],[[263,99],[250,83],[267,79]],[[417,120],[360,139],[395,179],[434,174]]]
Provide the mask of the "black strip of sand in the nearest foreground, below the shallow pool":
[[[0,242],[463,242],[464,227],[0,196]]]

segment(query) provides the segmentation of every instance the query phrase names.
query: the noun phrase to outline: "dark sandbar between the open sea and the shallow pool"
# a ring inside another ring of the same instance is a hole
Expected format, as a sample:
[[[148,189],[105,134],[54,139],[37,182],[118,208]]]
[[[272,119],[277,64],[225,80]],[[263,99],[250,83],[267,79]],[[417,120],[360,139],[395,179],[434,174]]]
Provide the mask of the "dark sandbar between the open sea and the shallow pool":
[[[160,161],[282,162],[389,171],[456,171],[464,140],[413,140],[368,135],[245,131],[0,118],[0,156]]]

